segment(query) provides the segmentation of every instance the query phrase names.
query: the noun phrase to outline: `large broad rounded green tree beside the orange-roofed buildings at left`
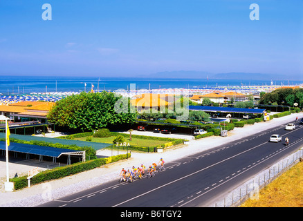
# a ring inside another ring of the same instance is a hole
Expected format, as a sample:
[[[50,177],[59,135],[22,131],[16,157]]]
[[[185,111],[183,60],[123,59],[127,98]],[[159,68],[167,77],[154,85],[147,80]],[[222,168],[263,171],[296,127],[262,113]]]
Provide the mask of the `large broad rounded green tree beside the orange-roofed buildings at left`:
[[[48,113],[48,122],[80,131],[133,124],[135,120],[136,113],[131,111],[129,99],[106,91],[68,96],[56,102]]]

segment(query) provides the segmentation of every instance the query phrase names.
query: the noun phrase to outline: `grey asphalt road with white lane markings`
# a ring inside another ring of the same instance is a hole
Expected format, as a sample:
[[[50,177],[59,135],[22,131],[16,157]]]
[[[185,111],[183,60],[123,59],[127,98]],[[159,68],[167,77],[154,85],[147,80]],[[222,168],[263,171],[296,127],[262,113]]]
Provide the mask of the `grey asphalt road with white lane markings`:
[[[169,162],[151,178],[122,184],[115,180],[40,206],[209,206],[302,146],[302,125],[297,124],[293,131],[285,131],[284,126]],[[272,134],[282,135],[283,141],[268,142]],[[288,146],[284,144],[286,136]]]

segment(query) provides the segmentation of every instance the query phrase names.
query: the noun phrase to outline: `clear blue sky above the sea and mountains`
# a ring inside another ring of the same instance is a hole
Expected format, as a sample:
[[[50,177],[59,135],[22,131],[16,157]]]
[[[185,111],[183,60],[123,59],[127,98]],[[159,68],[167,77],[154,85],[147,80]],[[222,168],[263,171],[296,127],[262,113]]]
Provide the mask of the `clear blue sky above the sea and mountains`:
[[[303,75],[303,1],[0,1],[0,75]],[[52,6],[52,21],[42,5]],[[251,3],[259,21],[251,21]]]

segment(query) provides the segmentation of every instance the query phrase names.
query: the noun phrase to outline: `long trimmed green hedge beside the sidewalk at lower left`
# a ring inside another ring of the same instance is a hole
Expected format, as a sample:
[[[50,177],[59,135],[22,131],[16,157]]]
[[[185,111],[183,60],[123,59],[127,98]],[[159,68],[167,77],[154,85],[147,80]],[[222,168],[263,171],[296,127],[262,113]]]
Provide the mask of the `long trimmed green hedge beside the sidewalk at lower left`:
[[[119,160],[124,160],[129,157],[131,157],[130,153],[116,155],[113,157],[89,160],[86,162],[79,162],[79,163],[71,164],[68,166],[62,166],[62,167],[57,167],[55,169],[42,171],[42,172],[38,173],[37,175],[35,175],[34,177],[32,177],[32,179],[30,179],[30,184],[34,185],[34,184],[39,184],[39,183],[50,181],[50,180],[57,180],[59,178],[66,177],[68,175],[73,175],[73,174],[80,173],[83,171],[89,171],[91,169],[100,167],[104,164],[109,164],[111,162],[117,162]],[[10,179],[10,182],[14,182],[15,190],[22,189],[22,188],[28,186],[27,175],[22,176],[22,177],[12,178],[12,179]]]

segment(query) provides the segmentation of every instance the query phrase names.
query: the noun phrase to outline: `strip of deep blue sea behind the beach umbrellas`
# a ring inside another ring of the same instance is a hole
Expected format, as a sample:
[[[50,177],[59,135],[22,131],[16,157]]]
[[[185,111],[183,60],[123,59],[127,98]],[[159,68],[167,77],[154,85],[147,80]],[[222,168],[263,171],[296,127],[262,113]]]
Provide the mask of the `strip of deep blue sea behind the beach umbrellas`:
[[[57,77],[57,76],[0,76],[2,95],[30,93],[81,92],[93,90],[130,90],[186,88],[203,89],[227,86],[300,85],[303,81],[271,81],[260,79],[165,79],[139,77]]]

